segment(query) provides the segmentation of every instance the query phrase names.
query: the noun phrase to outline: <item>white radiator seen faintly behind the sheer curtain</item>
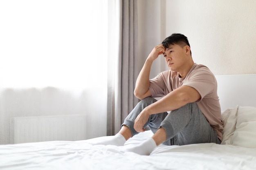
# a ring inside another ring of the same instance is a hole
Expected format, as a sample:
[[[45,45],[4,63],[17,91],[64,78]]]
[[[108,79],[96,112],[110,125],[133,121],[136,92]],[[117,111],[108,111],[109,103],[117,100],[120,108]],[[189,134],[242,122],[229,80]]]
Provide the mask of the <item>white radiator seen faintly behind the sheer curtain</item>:
[[[14,118],[14,144],[86,139],[85,115]]]

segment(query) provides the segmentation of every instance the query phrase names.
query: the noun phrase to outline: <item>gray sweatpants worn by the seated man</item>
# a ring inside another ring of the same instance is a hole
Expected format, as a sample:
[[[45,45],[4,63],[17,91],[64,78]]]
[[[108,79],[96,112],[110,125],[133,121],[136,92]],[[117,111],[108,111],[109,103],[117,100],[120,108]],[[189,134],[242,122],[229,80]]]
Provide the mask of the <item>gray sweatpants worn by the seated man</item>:
[[[128,126],[132,136],[138,134],[134,129],[134,121],[139,113],[148,105],[156,102],[153,97],[141,100],[124,120],[123,125]],[[196,103],[189,103],[171,113],[158,113],[150,115],[144,128],[149,127],[153,133],[162,127],[166,131],[165,145],[187,145],[198,143],[220,144],[217,132],[214,130]]]

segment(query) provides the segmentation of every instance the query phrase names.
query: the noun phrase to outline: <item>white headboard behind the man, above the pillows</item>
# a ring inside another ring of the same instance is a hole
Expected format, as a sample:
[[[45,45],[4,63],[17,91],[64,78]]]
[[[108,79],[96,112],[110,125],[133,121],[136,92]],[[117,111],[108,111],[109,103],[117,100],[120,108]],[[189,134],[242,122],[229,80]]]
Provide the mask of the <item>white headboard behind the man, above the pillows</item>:
[[[256,107],[256,74],[216,75],[222,111],[239,106]]]

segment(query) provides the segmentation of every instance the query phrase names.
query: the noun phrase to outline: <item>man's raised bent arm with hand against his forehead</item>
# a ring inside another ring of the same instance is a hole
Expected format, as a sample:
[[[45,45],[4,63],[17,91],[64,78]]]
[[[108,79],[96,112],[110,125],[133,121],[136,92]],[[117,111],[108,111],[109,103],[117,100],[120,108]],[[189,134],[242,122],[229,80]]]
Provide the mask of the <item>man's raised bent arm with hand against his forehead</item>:
[[[146,59],[146,62],[144,63],[144,66],[142,67],[135,84],[134,95],[138,99],[144,99],[146,97],[151,96],[149,90],[150,69],[153,64],[153,61],[160,54],[164,53],[164,50],[165,48],[163,44],[159,44],[158,46],[155,46],[151,53],[148,55],[148,58]]]

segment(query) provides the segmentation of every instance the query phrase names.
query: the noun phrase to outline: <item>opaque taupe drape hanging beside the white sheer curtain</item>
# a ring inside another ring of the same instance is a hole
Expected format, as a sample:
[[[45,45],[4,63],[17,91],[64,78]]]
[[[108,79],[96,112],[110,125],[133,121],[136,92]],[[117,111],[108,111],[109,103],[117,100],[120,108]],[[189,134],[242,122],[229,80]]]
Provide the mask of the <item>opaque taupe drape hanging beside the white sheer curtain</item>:
[[[137,104],[133,95],[137,79],[138,16],[137,0],[123,0],[121,55],[121,121]]]

